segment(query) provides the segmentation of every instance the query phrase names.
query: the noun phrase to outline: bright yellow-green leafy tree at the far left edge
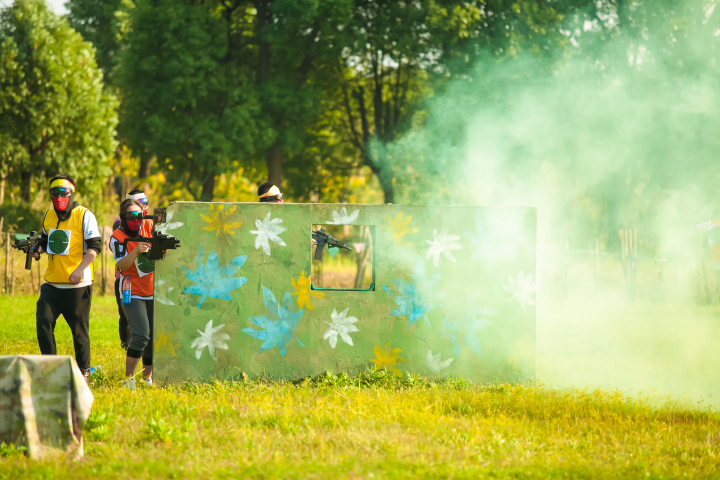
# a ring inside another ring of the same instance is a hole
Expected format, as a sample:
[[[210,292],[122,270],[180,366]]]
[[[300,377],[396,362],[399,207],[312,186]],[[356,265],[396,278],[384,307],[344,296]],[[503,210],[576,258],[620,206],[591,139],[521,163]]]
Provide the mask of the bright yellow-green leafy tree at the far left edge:
[[[18,0],[0,14],[0,53],[2,173],[26,201],[34,178],[57,172],[84,192],[101,189],[117,115],[92,46],[44,2]]]

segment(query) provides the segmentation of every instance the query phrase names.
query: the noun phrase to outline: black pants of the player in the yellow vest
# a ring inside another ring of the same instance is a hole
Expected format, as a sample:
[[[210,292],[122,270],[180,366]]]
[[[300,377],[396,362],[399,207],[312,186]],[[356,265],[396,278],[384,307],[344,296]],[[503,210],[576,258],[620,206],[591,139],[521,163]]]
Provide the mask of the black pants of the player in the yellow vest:
[[[43,355],[56,355],[55,323],[62,315],[73,336],[75,360],[81,370],[90,368],[90,304],[92,285],[57,288],[47,283],[40,288],[35,313],[38,344]]]

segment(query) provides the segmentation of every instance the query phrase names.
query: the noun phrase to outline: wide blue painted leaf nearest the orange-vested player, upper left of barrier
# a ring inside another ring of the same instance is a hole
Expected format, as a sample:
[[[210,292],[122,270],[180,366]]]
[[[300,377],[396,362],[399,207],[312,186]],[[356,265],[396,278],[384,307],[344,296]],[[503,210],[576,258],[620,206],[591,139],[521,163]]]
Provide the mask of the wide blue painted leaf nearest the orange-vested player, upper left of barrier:
[[[187,267],[180,267],[185,271],[185,275],[195,283],[185,290],[183,293],[193,293],[195,295],[202,295],[200,302],[198,302],[198,308],[205,301],[205,298],[220,298],[222,300],[232,300],[230,295],[231,290],[240,288],[247,283],[245,277],[233,277],[235,273],[245,264],[247,255],[240,255],[230,260],[230,263],[224,267],[220,266],[217,253],[212,250],[208,255],[207,263],[203,265],[203,259],[205,258],[205,252],[203,251],[202,245],[198,248],[198,256],[195,259],[195,266],[198,269],[193,271]]]

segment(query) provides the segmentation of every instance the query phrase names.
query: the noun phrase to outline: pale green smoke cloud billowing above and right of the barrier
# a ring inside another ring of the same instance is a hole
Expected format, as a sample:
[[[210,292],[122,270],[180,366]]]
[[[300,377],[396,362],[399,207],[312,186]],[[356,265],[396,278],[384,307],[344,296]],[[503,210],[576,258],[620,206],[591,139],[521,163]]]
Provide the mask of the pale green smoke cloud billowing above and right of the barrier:
[[[720,405],[720,310],[696,304],[708,300],[698,285],[716,287],[695,227],[720,218],[716,6],[577,12],[562,50],[488,55],[427,103],[422,128],[373,146],[401,202],[538,208],[538,374],[548,383]],[[621,228],[638,231],[636,294]]]

